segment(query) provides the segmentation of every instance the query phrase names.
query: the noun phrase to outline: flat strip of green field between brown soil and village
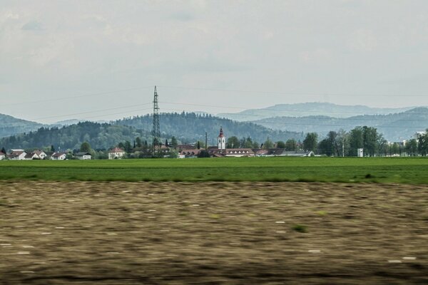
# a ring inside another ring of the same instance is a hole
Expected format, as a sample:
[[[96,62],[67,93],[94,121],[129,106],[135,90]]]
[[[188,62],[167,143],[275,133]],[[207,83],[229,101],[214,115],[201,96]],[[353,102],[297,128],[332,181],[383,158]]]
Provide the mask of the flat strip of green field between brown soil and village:
[[[0,161],[0,180],[299,181],[428,184],[428,159],[243,157]]]

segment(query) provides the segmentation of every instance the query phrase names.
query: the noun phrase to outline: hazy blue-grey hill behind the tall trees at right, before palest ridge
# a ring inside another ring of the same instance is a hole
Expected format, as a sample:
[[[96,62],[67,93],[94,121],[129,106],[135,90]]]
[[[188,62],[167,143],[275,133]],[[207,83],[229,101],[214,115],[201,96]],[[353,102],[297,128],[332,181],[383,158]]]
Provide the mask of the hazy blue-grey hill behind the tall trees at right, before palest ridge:
[[[305,117],[275,117],[255,120],[253,123],[274,130],[299,130],[326,135],[330,130],[351,130],[355,126],[367,125],[377,128],[389,141],[412,138],[417,131],[428,128],[428,108],[420,107],[389,115],[357,115],[350,118],[332,118],[322,115]]]

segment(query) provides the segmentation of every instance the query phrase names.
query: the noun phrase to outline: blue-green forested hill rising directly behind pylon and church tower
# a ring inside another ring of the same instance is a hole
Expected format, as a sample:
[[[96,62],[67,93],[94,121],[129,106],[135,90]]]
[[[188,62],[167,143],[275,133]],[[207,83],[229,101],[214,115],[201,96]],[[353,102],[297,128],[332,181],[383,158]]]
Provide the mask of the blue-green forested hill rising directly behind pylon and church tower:
[[[227,138],[236,136],[238,138],[252,138],[259,143],[264,142],[267,137],[270,140],[304,140],[304,134],[298,132],[288,132],[286,130],[271,130],[262,125],[249,122],[236,122],[233,120],[214,117],[209,114],[195,113],[164,113],[160,115],[161,134],[173,135],[181,142],[205,141],[205,132],[208,134],[208,143],[215,145],[220,126]],[[142,130],[151,130],[153,117],[151,115],[125,118],[116,121],[119,125],[128,125]]]

